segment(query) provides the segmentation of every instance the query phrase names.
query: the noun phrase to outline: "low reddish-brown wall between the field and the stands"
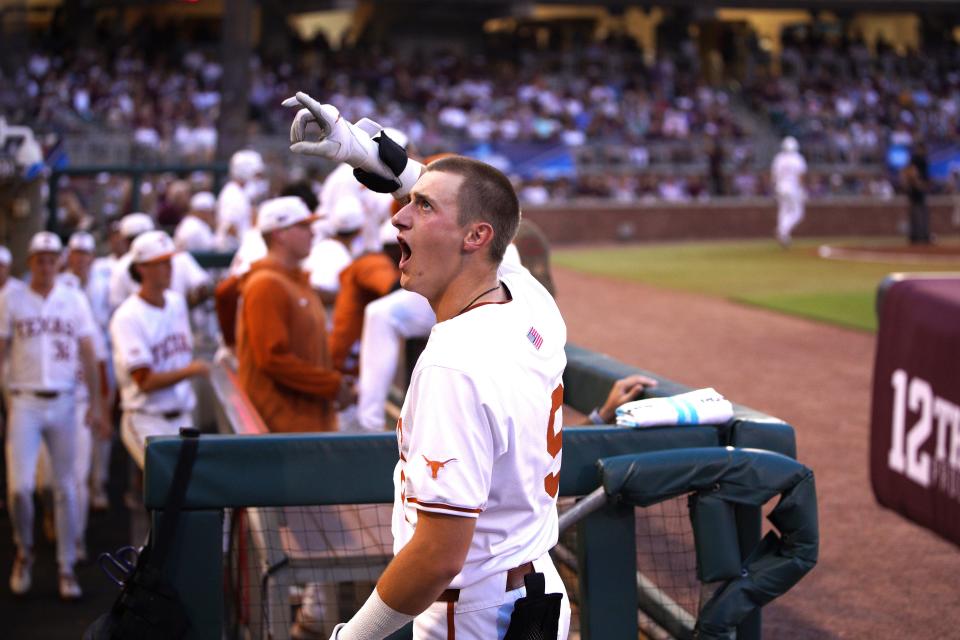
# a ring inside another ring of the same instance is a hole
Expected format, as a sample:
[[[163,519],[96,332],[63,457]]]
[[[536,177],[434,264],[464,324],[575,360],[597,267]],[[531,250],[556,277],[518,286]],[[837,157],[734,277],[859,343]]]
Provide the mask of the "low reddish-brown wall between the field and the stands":
[[[954,235],[953,200],[931,199],[934,234]],[[524,207],[552,244],[596,244],[713,238],[768,238],[776,226],[776,203],[770,199],[720,200],[687,204],[577,203]],[[794,231],[803,236],[904,235],[906,199],[850,198],[814,201]]]

